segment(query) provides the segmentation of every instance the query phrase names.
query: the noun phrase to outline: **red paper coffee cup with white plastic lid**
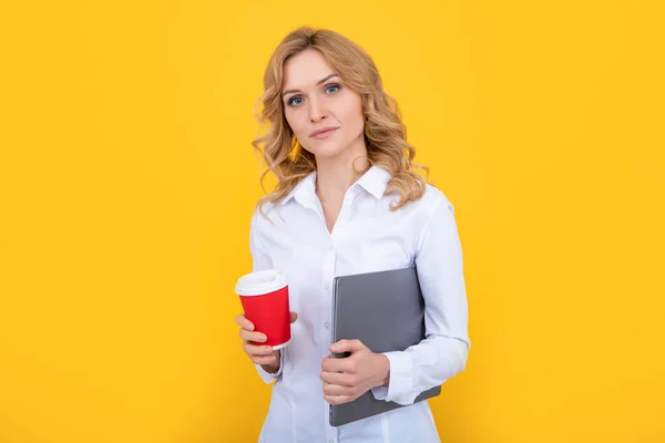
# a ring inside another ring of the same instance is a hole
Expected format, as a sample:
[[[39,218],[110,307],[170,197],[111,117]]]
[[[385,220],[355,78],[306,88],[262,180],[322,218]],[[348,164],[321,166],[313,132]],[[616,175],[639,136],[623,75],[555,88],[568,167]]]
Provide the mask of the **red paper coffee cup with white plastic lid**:
[[[265,342],[252,344],[287,346],[291,336],[286,276],[276,269],[250,272],[238,279],[235,291],[254,330],[267,337]]]

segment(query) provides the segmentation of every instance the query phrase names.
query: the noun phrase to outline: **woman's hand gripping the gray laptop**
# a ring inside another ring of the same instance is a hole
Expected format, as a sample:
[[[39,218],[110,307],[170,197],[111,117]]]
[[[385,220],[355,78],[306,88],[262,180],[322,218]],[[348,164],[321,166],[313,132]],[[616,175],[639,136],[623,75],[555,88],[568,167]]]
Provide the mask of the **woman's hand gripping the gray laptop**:
[[[330,351],[350,352],[350,357],[326,357],[321,363],[320,379],[328,403],[348,403],[372,388],[388,384],[390,361],[386,356],[370,351],[360,340],[340,340],[330,346]]]

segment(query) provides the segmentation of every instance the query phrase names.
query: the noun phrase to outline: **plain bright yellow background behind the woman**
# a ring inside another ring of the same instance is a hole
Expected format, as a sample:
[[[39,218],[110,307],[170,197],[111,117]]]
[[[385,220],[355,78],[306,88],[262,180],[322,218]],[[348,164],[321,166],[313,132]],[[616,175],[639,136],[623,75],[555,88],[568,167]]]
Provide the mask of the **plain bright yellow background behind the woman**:
[[[456,205],[442,441],[665,441],[661,2],[243,3],[0,7],[0,442],[256,441],[233,287],[299,24],[369,51]]]

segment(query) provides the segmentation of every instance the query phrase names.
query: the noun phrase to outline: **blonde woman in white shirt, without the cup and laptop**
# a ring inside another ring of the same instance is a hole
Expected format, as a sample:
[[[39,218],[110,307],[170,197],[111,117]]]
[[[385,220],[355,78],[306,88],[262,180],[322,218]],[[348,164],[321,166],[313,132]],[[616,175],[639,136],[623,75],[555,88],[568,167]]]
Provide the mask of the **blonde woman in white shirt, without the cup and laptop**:
[[[418,394],[464,369],[470,341],[462,251],[453,208],[412,171],[415,151],[371,59],[347,38],[300,28],[273,54],[254,146],[278,177],[250,225],[254,270],[289,282],[293,339],[282,351],[236,318],[244,350],[275,381],[259,442],[439,442]],[[264,174],[265,176],[265,174]],[[335,276],[417,266],[427,339],[374,353],[358,340],[331,344]],[[296,321],[297,319],[297,321]],[[330,352],[350,352],[331,359]],[[406,408],[332,427],[328,403],[371,390]]]

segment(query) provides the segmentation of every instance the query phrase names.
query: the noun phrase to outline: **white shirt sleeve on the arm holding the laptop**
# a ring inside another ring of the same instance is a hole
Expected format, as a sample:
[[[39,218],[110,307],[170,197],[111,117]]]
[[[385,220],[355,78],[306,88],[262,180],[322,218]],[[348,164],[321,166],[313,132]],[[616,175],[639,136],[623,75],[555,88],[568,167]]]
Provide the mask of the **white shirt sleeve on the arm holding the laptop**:
[[[422,230],[415,260],[426,305],[426,339],[405,351],[385,352],[388,385],[371,390],[377,400],[402,405],[463,371],[471,347],[462,249],[454,209],[446,197]]]

